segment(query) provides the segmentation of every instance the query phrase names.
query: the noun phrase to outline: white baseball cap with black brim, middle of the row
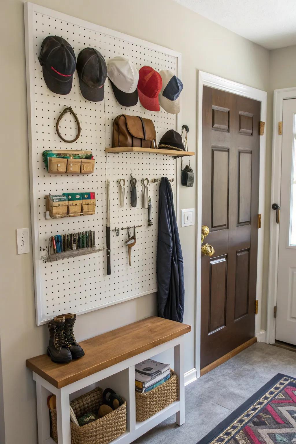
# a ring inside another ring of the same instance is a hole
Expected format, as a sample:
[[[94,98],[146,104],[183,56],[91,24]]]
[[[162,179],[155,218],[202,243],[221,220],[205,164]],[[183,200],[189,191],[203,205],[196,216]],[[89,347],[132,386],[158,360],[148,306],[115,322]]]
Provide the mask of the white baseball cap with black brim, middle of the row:
[[[111,59],[108,63],[107,76],[120,105],[133,107],[137,104],[139,73],[129,59],[120,56]]]

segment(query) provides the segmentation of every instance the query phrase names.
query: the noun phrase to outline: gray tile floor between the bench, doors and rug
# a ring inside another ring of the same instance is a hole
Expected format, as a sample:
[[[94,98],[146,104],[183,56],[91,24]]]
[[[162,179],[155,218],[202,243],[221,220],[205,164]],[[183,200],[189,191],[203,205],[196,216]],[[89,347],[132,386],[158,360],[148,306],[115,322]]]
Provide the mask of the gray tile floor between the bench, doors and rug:
[[[196,444],[276,373],[296,377],[296,353],[257,342],[185,387],[185,424],[171,416],[134,444]]]

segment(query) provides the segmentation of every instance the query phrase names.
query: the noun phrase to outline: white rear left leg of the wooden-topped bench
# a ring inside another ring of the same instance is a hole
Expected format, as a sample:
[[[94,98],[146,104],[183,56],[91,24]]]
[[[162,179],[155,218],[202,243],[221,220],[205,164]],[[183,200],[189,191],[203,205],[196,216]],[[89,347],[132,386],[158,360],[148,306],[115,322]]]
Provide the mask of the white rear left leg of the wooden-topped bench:
[[[51,395],[45,387],[36,382],[38,443],[45,444],[50,438],[49,410],[47,407],[47,396]]]

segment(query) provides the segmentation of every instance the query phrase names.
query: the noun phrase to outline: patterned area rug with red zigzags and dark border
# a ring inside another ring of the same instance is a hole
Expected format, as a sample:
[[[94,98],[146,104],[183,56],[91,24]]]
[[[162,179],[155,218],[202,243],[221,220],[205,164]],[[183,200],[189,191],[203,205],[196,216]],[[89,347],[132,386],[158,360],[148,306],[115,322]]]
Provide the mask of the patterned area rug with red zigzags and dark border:
[[[278,373],[198,444],[296,444],[296,378]]]

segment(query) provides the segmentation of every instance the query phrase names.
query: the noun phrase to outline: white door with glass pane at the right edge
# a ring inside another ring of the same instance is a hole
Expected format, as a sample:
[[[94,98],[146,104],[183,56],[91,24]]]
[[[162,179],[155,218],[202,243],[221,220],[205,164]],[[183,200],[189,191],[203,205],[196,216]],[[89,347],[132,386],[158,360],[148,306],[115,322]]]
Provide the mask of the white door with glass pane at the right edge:
[[[283,104],[279,222],[276,340],[296,345],[296,99]]]

